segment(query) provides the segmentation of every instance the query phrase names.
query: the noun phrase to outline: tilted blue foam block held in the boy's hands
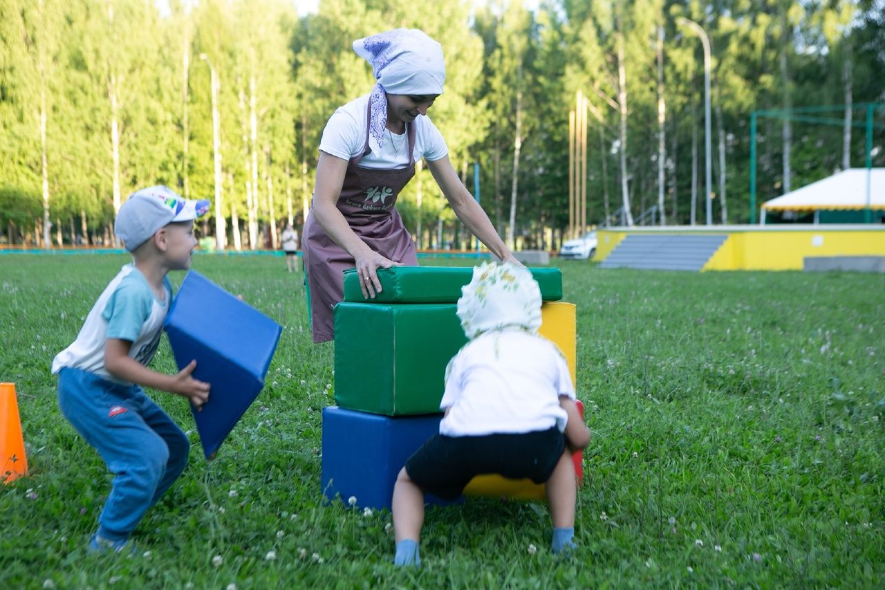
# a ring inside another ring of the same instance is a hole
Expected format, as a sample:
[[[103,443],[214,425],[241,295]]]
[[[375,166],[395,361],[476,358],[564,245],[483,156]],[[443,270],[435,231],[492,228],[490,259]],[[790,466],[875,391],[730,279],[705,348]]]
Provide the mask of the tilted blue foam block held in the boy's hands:
[[[193,377],[211,385],[193,410],[203,451],[211,459],[265,384],[280,324],[191,270],[164,324],[179,370],[196,360]]]

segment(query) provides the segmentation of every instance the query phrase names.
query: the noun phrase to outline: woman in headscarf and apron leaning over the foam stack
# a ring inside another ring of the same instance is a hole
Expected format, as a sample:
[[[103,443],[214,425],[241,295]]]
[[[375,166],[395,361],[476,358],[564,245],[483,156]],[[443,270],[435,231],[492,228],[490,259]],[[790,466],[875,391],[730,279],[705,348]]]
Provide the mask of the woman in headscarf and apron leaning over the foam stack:
[[[369,95],[335,111],[319,142],[302,242],[315,343],[335,338],[332,309],[342,300],[346,268],[357,268],[368,299],[381,290],[378,268],[418,264],[412,237],[394,208],[417,159],[427,161],[466,228],[498,259],[515,261],[458,178],[443,136],[427,118],[445,81],[440,44],[417,29],[398,28],[358,39],[353,50],[372,64],[377,83]]]

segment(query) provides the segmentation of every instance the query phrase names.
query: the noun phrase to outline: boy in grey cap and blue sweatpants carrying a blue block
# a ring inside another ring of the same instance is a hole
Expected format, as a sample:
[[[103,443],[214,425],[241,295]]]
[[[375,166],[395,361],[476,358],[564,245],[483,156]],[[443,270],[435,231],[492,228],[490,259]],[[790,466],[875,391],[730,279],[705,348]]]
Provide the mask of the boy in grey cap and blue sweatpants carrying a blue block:
[[[209,397],[209,384],[191,377],[196,361],[177,375],[147,367],[172,302],[166,274],[190,268],[194,220],[208,209],[209,201],[185,200],[165,186],[133,193],[119,208],[114,233],[134,260],[104,289],[73,344],[52,361],[62,414],[115,474],[91,550],[123,551],[144,513],[188,462],[188,438],[142,386],[178,393],[197,409]]]

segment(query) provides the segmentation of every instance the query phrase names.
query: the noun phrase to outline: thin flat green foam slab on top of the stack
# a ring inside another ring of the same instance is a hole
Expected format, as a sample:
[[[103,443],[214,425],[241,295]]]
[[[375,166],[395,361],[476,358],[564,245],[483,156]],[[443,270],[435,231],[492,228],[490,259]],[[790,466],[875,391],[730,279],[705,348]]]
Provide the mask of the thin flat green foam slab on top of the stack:
[[[541,299],[562,299],[562,271],[558,268],[529,268],[541,288]],[[379,268],[381,292],[375,299],[363,297],[354,268],[344,271],[344,300],[358,303],[456,303],[461,287],[470,283],[473,267]]]

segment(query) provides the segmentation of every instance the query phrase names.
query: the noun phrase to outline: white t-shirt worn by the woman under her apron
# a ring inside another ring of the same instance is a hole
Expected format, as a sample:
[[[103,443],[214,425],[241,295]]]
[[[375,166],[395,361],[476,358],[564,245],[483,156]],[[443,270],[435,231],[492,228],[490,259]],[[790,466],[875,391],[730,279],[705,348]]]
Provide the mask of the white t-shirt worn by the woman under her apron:
[[[348,160],[362,156],[366,147],[368,105],[369,95],[366,95],[339,107],[323,129],[322,139],[319,140],[319,151]],[[445,144],[443,134],[429,117],[418,115],[412,125],[415,127],[415,147],[412,154],[416,162],[421,158],[434,161],[444,158],[449,153],[449,146]],[[382,147],[378,147],[378,142],[371,134],[369,135],[369,149],[372,152],[359,160],[360,167],[393,169],[409,165],[409,137],[407,134],[387,135],[389,133],[389,130],[385,129]]]

